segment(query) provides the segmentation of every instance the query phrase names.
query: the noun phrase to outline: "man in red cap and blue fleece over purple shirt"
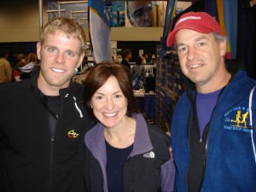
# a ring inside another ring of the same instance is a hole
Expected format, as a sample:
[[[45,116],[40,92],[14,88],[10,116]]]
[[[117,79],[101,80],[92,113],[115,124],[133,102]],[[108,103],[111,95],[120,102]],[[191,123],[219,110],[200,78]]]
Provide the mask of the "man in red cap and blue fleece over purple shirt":
[[[255,191],[256,82],[224,60],[226,39],[207,13],[182,15],[166,44],[187,87],[171,127],[176,191]]]

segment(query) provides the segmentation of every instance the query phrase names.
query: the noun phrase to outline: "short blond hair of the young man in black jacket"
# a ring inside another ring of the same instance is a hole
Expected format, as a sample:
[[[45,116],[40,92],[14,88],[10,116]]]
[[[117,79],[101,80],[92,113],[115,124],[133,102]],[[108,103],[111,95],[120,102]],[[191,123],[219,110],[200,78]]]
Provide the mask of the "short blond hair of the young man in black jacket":
[[[67,17],[57,17],[54,20],[50,20],[43,28],[40,36],[40,43],[44,44],[44,38],[47,34],[55,34],[56,32],[63,32],[67,34],[67,37],[73,36],[78,38],[82,42],[80,53],[85,49],[85,33],[82,26],[76,20],[69,19]]]

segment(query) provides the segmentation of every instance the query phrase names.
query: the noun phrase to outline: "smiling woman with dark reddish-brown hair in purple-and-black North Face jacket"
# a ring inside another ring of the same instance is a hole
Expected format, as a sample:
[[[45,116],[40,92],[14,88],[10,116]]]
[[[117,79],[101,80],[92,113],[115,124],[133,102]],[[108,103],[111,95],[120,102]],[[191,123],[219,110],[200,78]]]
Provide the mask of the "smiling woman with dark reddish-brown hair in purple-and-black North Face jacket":
[[[128,68],[97,64],[84,90],[85,107],[99,121],[84,138],[88,191],[172,191],[170,139],[138,113]]]

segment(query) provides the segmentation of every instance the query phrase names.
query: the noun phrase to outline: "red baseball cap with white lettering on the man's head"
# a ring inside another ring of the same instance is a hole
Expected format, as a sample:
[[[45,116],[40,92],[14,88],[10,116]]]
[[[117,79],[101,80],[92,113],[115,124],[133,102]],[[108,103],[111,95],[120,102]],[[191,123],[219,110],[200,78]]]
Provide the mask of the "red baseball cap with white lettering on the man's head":
[[[220,26],[214,17],[205,12],[188,12],[177,20],[174,30],[168,35],[167,46],[174,44],[175,35],[180,29],[191,29],[201,33],[217,32],[221,35]]]

